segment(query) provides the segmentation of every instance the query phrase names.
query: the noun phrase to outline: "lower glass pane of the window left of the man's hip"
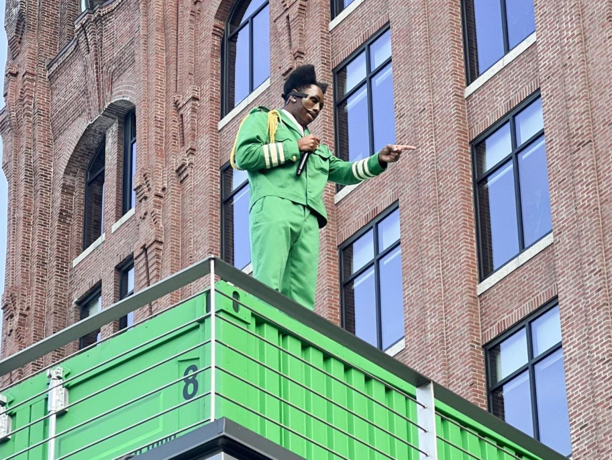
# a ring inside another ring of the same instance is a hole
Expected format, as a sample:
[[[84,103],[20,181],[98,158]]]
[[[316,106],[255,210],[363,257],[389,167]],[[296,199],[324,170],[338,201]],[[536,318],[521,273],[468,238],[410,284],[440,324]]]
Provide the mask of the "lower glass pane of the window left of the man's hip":
[[[248,231],[248,184],[223,204],[223,252],[225,260],[237,269],[244,269],[251,261]]]

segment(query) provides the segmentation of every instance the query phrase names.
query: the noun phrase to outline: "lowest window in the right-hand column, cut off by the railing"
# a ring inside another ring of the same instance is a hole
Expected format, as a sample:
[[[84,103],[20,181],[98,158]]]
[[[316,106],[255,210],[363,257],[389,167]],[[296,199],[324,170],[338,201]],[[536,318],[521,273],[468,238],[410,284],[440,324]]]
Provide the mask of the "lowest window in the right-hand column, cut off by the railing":
[[[489,409],[563,455],[570,445],[559,305],[485,346]]]

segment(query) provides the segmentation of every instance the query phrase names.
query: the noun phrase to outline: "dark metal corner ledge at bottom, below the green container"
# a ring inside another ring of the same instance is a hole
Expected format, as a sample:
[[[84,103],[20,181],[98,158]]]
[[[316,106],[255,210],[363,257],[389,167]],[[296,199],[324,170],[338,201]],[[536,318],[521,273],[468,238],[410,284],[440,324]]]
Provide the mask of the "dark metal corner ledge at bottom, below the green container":
[[[304,460],[286,448],[222,417],[159,447],[138,455],[139,460],[196,460],[225,452],[241,459]]]

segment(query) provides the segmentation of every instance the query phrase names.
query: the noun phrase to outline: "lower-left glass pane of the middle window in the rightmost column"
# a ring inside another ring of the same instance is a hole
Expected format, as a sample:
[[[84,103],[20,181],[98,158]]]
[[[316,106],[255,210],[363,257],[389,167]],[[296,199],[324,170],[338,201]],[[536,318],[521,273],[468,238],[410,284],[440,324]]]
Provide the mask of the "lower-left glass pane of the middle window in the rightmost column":
[[[517,203],[512,163],[478,186],[480,247],[483,275],[518,253]]]

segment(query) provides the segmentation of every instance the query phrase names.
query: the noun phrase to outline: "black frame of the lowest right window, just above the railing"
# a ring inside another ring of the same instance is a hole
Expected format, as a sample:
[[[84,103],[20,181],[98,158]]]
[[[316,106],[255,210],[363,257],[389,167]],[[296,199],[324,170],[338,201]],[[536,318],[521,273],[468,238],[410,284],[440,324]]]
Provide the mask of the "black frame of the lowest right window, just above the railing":
[[[525,371],[528,371],[529,396],[531,397],[531,417],[532,417],[531,421],[532,421],[532,427],[534,429],[533,438],[538,441],[540,440],[540,424],[538,420],[537,397],[535,393],[535,366],[538,363],[545,360],[546,358],[553,355],[554,353],[556,353],[557,351],[559,351],[559,349],[561,350],[563,349],[563,336],[561,335],[561,340],[558,343],[548,347],[548,349],[546,349],[545,351],[541,352],[539,355],[534,357],[531,325],[537,319],[547,314],[548,311],[553,310],[553,308],[556,306],[559,306],[559,299],[557,297],[554,297],[553,299],[545,303],[543,306],[535,310],[533,313],[521,319],[520,322],[513,325],[512,327],[510,327],[509,329],[501,333],[501,335],[497,336],[496,338],[489,341],[483,346],[483,349],[485,352],[485,371],[486,371],[486,379],[487,379],[486,385],[487,385],[488,412],[493,414],[493,392],[503,387],[508,382],[518,377],[520,374],[524,373]],[[561,313],[561,308],[559,308],[559,313]],[[525,328],[525,331],[526,331],[527,357],[528,357],[527,363],[525,363],[524,365],[522,365],[520,368],[516,369],[512,373],[508,374],[503,379],[499,380],[499,382],[497,382],[496,384],[491,385],[491,382],[493,382],[493,378],[491,376],[491,365],[490,365],[490,358],[489,358],[491,349],[498,346],[500,343],[505,341],[507,338],[509,338],[513,334],[519,332],[522,328]],[[559,328],[561,328],[560,324],[559,324]],[[566,379],[565,379],[565,373],[564,373],[564,383],[565,382],[566,382]]]

